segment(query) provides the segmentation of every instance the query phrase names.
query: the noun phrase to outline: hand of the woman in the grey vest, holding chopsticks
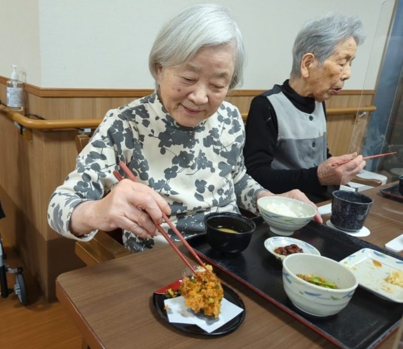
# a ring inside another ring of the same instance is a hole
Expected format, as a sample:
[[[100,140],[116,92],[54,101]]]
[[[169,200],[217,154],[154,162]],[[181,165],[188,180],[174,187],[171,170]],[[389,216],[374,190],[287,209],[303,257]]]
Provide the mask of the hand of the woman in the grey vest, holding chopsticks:
[[[332,164],[348,161],[343,165]],[[350,182],[366,165],[362,155],[356,152],[338,157],[331,157],[317,167],[317,177],[321,185],[341,185]]]

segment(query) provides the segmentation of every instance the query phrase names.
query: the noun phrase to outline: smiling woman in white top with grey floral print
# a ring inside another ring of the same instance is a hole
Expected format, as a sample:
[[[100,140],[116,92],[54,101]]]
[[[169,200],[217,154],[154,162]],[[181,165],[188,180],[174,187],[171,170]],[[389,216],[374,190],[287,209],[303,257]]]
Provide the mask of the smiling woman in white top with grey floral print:
[[[193,5],[168,21],[150,54],[155,93],[107,113],[52,194],[50,226],[84,241],[121,228],[137,252],[166,244],[154,225],[162,212],[185,237],[204,231],[207,213],[256,212],[257,199],[273,194],[246,174],[242,118],[224,101],[243,61],[241,33],[221,6]],[[136,183],[114,178],[120,161]],[[309,202],[299,190],[283,195]]]

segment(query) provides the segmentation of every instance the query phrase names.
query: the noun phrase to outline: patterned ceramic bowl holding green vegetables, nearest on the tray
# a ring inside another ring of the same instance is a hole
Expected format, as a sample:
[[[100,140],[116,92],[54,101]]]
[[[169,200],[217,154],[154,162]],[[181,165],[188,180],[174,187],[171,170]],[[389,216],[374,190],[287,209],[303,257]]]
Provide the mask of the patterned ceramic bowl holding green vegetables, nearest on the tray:
[[[336,284],[324,288],[296,274],[320,276]],[[284,290],[294,306],[314,316],[330,316],[342,311],[358,286],[355,275],[337,261],[308,253],[290,254],[283,260]]]

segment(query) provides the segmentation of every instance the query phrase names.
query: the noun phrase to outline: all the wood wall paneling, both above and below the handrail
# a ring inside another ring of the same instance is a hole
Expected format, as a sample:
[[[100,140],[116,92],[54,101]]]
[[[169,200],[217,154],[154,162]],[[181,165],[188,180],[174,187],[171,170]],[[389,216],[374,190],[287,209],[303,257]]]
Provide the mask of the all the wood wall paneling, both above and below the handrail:
[[[6,100],[6,79],[0,77],[0,99]],[[105,113],[126,104],[151,90],[77,90],[26,89],[26,113],[47,119],[102,118]],[[252,98],[263,91],[239,90],[227,97],[247,113]],[[343,91],[333,96],[328,108],[371,105],[373,91]],[[353,128],[355,115],[328,117],[329,148],[333,155],[349,150],[351,137],[360,148],[369,120],[358,120],[359,132]],[[353,132],[354,129],[354,132]],[[357,128],[358,129],[358,128]],[[48,300],[55,299],[54,279],[65,271],[83,264],[74,253],[74,241],[54,232],[47,223],[49,197],[74,168],[74,144],[78,130],[32,131],[32,141],[19,135],[11,120],[0,116],[0,144],[4,149],[0,166],[0,200],[7,217],[8,241],[19,251],[27,268],[36,277]],[[2,232],[3,233],[3,232]]]

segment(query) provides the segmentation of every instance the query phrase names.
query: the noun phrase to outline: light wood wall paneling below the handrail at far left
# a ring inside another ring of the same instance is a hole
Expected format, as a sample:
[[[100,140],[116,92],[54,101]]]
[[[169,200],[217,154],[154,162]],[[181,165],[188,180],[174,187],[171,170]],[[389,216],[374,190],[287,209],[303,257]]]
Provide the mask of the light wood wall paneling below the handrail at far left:
[[[54,232],[46,218],[51,193],[74,166],[70,140],[75,134],[60,137],[60,132],[34,131],[32,142],[27,142],[10,120],[0,118],[4,149],[0,200],[6,213],[1,233],[7,235],[49,301],[55,299],[55,277],[83,266],[74,253],[74,241]],[[53,142],[47,141],[49,135]]]

